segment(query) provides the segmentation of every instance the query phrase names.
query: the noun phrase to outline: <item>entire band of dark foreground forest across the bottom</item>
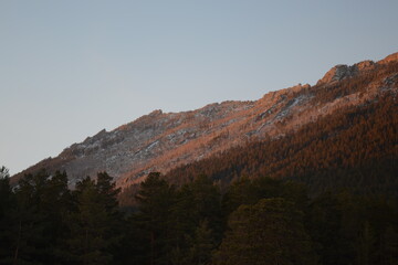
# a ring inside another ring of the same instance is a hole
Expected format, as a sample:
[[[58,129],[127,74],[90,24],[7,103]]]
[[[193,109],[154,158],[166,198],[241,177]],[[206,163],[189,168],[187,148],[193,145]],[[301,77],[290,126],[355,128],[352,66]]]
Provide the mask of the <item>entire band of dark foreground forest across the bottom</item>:
[[[118,205],[101,172],[67,188],[64,172],[0,178],[0,264],[397,264],[395,197],[349,190],[308,197],[304,183],[150,173]]]

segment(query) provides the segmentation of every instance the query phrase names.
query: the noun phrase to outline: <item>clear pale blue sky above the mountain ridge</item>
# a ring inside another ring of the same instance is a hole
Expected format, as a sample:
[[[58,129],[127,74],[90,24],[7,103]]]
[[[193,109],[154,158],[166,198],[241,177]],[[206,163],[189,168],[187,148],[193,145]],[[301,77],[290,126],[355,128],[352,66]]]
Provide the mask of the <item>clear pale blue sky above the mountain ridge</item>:
[[[0,166],[398,51],[397,0],[1,0]]]

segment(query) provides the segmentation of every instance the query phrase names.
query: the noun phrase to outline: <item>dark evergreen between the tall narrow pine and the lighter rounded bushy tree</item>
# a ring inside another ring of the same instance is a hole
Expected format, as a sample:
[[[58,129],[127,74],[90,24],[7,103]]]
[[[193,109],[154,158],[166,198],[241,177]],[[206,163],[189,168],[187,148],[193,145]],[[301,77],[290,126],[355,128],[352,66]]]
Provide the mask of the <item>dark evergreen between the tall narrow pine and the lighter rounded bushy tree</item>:
[[[199,176],[177,191],[171,213],[172,264],[201,264],[208,261],[222,236],[221,193],[218,186],[208,177]],[[206,244],[208,247],[205,247]]]

